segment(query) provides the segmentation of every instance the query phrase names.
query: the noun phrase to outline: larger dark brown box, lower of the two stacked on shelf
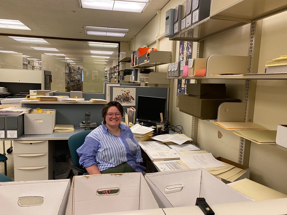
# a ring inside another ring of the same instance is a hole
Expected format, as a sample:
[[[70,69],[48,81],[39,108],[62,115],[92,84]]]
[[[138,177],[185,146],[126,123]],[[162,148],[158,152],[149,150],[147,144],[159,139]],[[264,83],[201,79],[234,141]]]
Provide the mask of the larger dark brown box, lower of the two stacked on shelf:
[[[217,119],[218,107],[223,102],[240,102],[239,99],[199,99],[187,94],[179,95],[179,111],[201,120]]]

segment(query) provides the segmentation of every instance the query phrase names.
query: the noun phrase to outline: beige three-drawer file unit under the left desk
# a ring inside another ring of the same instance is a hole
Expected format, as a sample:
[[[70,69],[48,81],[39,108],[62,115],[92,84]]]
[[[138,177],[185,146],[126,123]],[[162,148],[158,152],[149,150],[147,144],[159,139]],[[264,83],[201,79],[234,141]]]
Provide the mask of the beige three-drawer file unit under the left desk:
[[[14,141],[15,181],[53,179],[49,161],[51,163],[52,159],[49,158],[48,140]]]

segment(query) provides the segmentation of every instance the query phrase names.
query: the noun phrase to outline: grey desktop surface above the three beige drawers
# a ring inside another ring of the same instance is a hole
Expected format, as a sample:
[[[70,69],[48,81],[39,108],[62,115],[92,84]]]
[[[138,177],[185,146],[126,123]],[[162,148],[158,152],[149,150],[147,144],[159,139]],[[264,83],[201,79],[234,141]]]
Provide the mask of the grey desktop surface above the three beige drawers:
[[[84,128],[77,128],[74,132],[53,132],[53,134],[24,134],[17,140],[67,140],[73,134],[77,134],[84,130]]]

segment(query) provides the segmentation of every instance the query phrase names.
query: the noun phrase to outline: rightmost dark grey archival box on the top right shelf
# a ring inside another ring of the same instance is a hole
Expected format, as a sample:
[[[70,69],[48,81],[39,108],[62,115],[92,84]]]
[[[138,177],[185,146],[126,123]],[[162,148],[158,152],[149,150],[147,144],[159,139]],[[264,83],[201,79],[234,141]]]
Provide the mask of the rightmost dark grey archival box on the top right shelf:
[[[192,1],[192,25],[209,17],[210,0],[193,0]]]

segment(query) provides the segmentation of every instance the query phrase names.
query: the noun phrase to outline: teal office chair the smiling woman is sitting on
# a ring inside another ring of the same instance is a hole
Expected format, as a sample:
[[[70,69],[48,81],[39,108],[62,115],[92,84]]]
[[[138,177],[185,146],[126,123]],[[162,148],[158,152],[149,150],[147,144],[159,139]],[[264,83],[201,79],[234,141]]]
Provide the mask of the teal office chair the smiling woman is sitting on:
[[[70,168],[72,170],[75,170],[78,173],[78,175],[79,174],[83,175],[86,172],[86,169],[79,165],[80,157],[77,153],[77,149],[84,144],[86,136],[90,134],[91,131],[92,130],[85,130],[77,134],[73,134],[68,139],[68,145],[73,160],[73,166],[71,166]]]

